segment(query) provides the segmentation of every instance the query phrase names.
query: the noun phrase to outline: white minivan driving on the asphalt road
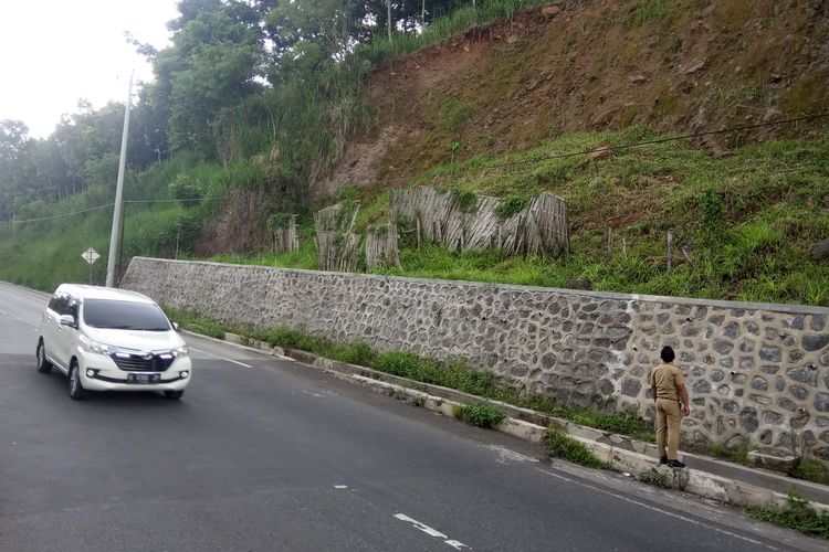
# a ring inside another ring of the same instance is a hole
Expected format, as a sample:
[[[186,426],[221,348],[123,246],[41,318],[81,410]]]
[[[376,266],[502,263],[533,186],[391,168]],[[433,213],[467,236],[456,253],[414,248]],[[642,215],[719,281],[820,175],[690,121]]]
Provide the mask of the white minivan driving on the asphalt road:
[[[43,311],[38,371],[57,368],[69,393],[164,391],[181,399],[192,379],[187,343],[153,299],[108,287],[62,284]]]

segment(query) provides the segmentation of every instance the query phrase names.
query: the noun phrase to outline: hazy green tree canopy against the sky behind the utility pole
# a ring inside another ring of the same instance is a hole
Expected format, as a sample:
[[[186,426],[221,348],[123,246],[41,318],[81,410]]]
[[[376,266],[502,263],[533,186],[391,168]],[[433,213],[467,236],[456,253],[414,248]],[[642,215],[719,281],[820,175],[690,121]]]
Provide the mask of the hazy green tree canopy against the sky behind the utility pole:
[[[280,139],[288,152],[292,140],[318,140],[303,135],[302,120],[294,121],[296,136],[285,138],[292,130],[286,117],[295,116],[298,98],[332,94],[328,84],[315,93],[307,83],[336,71],[358,45],[385,38],[388,13],[397,32],[419,32],[436,15],[471,3],[181,0],[178,17],[168,22],[169,46],[157,50],[126,36],[153,63],[155,74],[137,94],[128,166],[143,170],[188,150],[227,161],[238,152],[266,151]],[[76,113],[64,116],[52,135],[40,140],[29,137],[23,121],[0,121],[0,221],[20,219],[28,204],[112,188],[123,116],[123,104],[93,109],[80,100]],[[332,115],[313,106],[302,117],[307,121]],[[243,138],[251,145],[240,147]],[[306,161],[296,160],[280,171],[298,178],[307,171]]]

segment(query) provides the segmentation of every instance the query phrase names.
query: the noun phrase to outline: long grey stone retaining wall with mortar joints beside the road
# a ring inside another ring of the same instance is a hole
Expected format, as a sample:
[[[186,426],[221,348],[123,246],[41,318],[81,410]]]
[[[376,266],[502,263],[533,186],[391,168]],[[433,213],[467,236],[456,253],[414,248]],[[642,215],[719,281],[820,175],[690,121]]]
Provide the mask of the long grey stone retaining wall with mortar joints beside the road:
[[[829,309],[135,257],[122,287],[233,322],[466,359],[511,385],[606,411],[653,408],[678,352],[683,438],[829,460]]]

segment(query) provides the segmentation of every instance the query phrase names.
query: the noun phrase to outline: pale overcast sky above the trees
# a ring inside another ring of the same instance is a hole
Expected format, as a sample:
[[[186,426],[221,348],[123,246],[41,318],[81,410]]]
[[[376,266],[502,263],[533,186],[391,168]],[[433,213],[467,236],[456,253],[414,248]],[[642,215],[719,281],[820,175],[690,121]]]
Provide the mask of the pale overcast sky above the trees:
[[[0,119],[22,120],[45,138],[62,114],[85,98],[96,109],[124,102],[130,70],[151,79],[127,44],[129,31],[156,47],[168,44],[177,0],[0,0]]]

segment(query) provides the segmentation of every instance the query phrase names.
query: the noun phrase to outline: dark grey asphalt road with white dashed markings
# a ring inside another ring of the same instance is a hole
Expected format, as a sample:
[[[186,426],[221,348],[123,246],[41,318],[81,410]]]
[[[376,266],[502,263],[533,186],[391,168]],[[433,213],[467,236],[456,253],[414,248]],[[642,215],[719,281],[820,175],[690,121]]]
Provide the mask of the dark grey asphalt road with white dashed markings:
[[[0,550],[820,550],[738,511],[188,339],[181,402],[70,400],[46,296],[0,284]]]

